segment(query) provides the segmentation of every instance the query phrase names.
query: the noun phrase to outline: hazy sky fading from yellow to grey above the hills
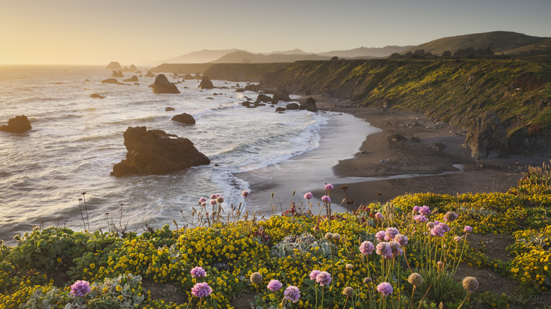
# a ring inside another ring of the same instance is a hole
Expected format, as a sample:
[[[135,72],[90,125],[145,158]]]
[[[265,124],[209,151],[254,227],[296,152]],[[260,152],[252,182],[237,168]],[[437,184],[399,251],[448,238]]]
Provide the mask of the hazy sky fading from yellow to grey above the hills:
[[[107,64],[201,49],[328,52],[495,30],[551,37],[550,0],[0,0],[0,64]]]

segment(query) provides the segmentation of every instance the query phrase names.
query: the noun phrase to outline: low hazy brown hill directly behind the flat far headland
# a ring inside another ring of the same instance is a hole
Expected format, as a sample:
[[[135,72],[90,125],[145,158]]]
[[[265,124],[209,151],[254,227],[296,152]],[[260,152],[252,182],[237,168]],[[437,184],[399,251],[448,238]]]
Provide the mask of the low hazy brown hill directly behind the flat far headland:
[[[253,54],[244,51],[232,52],[211,63],[279,63],[295,62],[300,60],[328,60],[329,56],[315,54]]]

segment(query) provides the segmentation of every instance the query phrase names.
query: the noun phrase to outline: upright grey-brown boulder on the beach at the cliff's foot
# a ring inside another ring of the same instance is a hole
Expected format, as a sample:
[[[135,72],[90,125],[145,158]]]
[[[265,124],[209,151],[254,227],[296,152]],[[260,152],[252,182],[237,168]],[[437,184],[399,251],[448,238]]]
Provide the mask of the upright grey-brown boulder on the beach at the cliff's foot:
[[[471,121],[463,145],[474,158],[509,157],[507,135],[496,114],[485,112]]]

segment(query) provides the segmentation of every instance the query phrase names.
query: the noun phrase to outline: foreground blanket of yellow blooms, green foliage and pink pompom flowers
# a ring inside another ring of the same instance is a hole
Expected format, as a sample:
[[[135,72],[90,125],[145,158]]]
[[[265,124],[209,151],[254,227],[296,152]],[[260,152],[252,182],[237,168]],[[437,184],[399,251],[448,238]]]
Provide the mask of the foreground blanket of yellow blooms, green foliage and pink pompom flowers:
[[[232,308],[246,298],[255,308],[549,308],[538,295],[551,289],[550,185],[544,164],[507,193],[404,195],[330,217],[312,214],[308,194],[302,207],[292,202],[261,221],[241,207],[223,215],[224,200],[213,195],[212,212],[199,201],[195,227],[124,238],[37,227],[16,236],[17,246],[0,247],[0,307]],[[499,235],[514,238],[511,260],[494,260],[470,241]],[[458,272],[466,264],[517,287],[481,292],[472,274]],[[169,301],[155,286],[182,298]]]

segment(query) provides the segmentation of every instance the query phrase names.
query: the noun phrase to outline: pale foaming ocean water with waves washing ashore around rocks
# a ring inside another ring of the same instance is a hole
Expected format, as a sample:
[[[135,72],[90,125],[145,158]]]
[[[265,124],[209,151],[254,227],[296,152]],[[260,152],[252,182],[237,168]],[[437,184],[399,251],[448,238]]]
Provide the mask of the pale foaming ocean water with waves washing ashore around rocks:
[[[111,73],[99,66],[0,66],[0,124],[24,114],[32,125],[26,133],[0,132],[0,239],[6,243],[33,226],[83,230],[83,196],[93,231],[107,231],[106,212],[138,233],[146,224],[174,228],[173,219],[183,226],[182,215],[189,219],[201,196],[219,193],[230,207],[259,183],[262,196],[251,192],[247,209],[269,216],[270,192],[277,193],[278,205],[288,205],[296,190],[300,202],[305,192],[334,179],[331,166],[379,131],[350,114],[247,109],[241,103],[257,94],[235,92],[235,82],[213,80],[228,89],[201,90],[199,80],[185,80],[177,84],[179,95],[158,95],[148,87],[154,78],[132,72],[118,80],[138,75],[139,85],[102,84]],[[196,124],[170,120],[184,112]],[[109,176],[126,155],[129,126],[189,138],[211,164],[162,176]]]

